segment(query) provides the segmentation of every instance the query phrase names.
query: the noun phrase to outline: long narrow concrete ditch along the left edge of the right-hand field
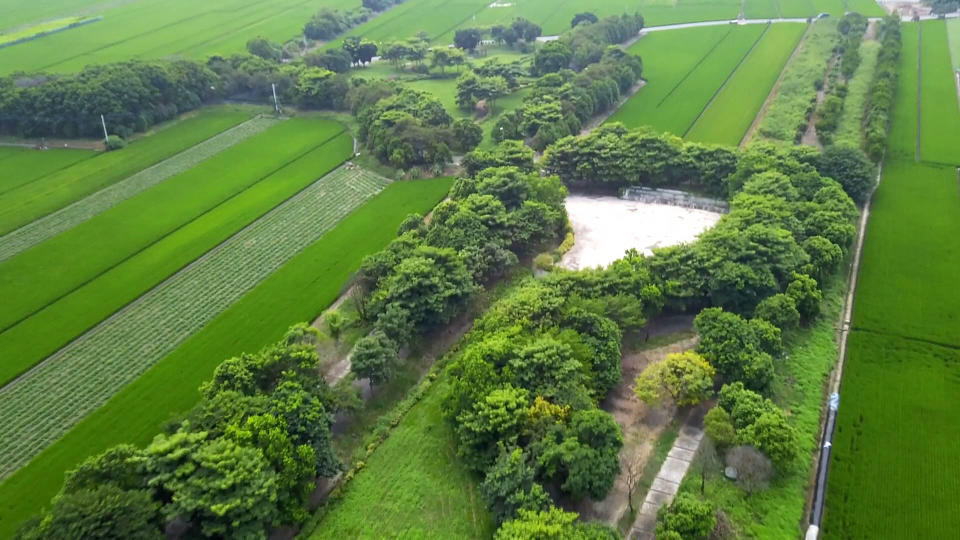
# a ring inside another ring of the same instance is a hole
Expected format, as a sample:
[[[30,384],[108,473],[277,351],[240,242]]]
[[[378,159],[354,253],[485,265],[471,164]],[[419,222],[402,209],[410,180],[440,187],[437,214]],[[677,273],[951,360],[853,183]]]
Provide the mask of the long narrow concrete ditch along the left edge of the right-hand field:
[[[830,370],[830,375],[827,379],[827,399],[823,402],[823,406],[826,407],[826,414],[824,414],[824,409],[821,408],[820,426],[817,434],[819,444],[813,455],[813,463],[817,464],[817,467],[811,467],[811,471],[815,471],[813,473],[814,482],[812,489],[809,490],[806,497],[807,508],[805,509],[804,515],[808,518],[808,528],[805,540],[817,540],[819,537],[820,525],[822,524],[823,514],[826,508],[827,480],[830,473],[831,457],[829,450],[833,446],[833,432],[836,429],[836,425],[833,422],[836,420],[840,399],[840,387],[843,382],[843,369],[847,361],[847,340],[850,337],[850,332],[853,330],[853,309],[856,304],[856,292],[860,276],[860,263],[863,256],[863,245],[866,242],[870,209],[873,206],[873,195],[880,188],[880,182],[882,182],[882,180],[883,161],[880,162],[877,170],[877,181],[873,189],[870,190],[870,194],[867,196],[867,202],[863,205],[863,212],[860,214],[860,223],[857,227],[856,249],[853,252],[853,260],[850,263],[850,270],[847,275],[847,294],[844,296],[843,310],[841,311],[839,321],[840,327],[837,329],[837,363],[833,369]],[[836,396],[835,403],[833,396]],[[827,450],[826,454],[824,450]]]

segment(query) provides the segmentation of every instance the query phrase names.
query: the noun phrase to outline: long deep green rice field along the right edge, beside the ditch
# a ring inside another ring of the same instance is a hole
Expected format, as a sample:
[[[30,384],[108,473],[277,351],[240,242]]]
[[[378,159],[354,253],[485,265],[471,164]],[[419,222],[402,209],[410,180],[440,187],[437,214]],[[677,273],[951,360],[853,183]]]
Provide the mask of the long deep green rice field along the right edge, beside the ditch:
[[[824,522],[830,537],[956,531],[960,484],[949,471],[960,459],[960,107],[955,87],[946,91],[954,84],[946,35],[943,21],[903,25],[841,387]]]

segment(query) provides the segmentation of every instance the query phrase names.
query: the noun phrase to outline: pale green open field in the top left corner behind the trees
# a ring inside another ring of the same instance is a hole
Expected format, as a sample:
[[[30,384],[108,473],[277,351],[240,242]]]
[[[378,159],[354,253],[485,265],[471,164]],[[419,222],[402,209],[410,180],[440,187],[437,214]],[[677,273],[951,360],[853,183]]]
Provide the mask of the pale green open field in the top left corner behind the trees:
[[[0,50],[0,73],[76,71],[130,58],[244,51],[257,35],[283,42],[300,34],[321,7],[355,8],[356,0],[139,0],[103,6],[103,20]],[[68,10],[70,8],[67,8]]]

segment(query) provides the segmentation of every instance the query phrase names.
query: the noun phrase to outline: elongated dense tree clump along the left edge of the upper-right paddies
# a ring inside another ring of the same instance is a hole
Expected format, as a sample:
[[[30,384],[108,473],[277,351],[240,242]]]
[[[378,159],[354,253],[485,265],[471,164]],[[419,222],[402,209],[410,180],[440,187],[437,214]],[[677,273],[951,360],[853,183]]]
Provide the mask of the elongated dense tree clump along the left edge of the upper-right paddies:
[[[500,116],[493,137],[529,139],[533,148],[543,150],[580,133],[593,116],[615,107],[640,78],[642,69],[639,58],[609,47],[597,63],[580,73],[563,69],[544,75],[533,83],[520,107]]]

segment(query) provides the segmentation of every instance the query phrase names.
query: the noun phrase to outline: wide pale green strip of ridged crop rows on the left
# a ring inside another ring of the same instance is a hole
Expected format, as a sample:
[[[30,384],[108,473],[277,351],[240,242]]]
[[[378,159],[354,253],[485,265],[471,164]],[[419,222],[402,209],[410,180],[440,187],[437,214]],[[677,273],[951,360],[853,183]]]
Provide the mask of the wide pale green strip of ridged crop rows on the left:
[[[0,389],[0,478],[225,311],[387,184],[341,168]]]

